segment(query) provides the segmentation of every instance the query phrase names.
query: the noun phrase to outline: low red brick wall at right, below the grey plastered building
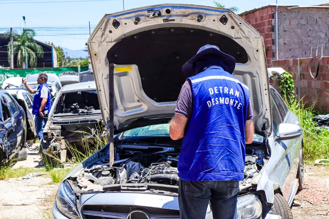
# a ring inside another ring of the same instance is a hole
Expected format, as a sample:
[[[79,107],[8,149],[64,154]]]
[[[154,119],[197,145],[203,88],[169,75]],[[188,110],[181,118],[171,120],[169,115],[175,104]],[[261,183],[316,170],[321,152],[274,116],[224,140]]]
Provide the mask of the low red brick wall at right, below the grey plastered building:
[[[315,58],[312,64],[310,63],[311,59],[299,58],[300,80],[297,78],[298,59],[274,60],[273,67],[281,67],[293,74],[295,94],[298,94],[298,81],[300,81],[300,96],[301,98],[304,97],[304,103],[308,101],[311,104],[315,101],[316,109],[324,113],[329,112],[329,56],[322,58],[319,74],[315,79],[311,77],[309,71],[311,68],[315,76],[319,58]],[[271,80],[270,83],[279,91],[277,80],[274,80],[274,83]]]

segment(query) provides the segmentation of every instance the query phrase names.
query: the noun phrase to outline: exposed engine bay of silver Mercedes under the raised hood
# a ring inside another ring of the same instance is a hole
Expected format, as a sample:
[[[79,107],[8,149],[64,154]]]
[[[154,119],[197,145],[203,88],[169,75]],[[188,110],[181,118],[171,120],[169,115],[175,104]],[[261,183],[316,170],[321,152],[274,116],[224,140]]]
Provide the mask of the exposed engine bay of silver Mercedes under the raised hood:
[[[264,142],[246,145],[244,181],[240,181],[240,186],[251,187],[257,184],[252,182],[253,178],[266,165],[269,158],[263,146]],[[73,174],[67,181],[73,190],[80,190],[81,193],[124,191],[129,190],[125,187],[143,184],[167,185],[178,189],[179,153],[180,146],[137,145],[128,141],[115,147],[116,159],[112,167],[109,165],[109,156],[100,156],[96,162]],[[146,190],[145,188],[144,191]],[[148,192],[152,192],[152,189]]]

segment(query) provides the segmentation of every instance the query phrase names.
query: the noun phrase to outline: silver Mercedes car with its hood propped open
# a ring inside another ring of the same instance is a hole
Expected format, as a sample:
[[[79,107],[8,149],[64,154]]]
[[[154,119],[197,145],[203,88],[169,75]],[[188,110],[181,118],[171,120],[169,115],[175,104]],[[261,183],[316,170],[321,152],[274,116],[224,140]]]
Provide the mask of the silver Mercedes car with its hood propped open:
[[[180,218],[182,140],[170,139],[168,121],[186,80],[181,68],[205,44],[235,57],[233,75],[248,86],[254,112],[238,218],[292,218],[303,188],[302,129],[268,84],[262,36],[230,10],[177,4],[107,14],[91,34],[98,98],[114,141],[63,179],[52,218]]]

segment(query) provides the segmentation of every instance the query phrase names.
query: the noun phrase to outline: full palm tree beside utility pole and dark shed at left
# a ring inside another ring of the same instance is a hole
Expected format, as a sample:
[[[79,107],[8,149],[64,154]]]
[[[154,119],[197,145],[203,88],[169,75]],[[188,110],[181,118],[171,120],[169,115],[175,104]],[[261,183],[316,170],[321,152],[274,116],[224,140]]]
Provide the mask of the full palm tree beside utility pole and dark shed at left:
[[[6,35],[8,35],[8,33]],[[13,54],[14,56],[17,55],[18,68],[25,68],[26,63],[32,68],[35,68],[38,58],[43,58],[42,47],[33,39],[35,35],[35,31],[31,29],[23,29],[21,35],[13,34]],[[10,62],[10,51],[11,47],[9,42],[7,48],[8,62]]]

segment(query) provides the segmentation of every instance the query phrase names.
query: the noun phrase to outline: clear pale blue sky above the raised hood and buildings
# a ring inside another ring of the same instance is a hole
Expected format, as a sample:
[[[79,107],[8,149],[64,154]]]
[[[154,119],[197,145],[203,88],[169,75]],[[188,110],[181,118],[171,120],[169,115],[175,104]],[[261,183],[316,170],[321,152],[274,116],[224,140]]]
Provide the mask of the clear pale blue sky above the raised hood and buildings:
[[[73,2],[79,1],[79,2]],[[164,3],[195,4],[215,6],[214,0],[0,0],[0,33],[13,27],[20,33],[20,27],[33,28],[42,42],[53,42],[56,46],[70,50],[85,49],[91,32],[104,14]],[[31,3],[37,2],[37,3]],[[44,3],[50,2],[50,3]],[[238,7],[239,12],[267,4],[276,0],[218,0],[225,7]],[[309,5],[307,0],[278,0],[278,4]],[[314,0],[312,5],[329,3],[329,0]],[[24,24],[22,16],[25,16]],[[74,28],[74,29],[72,29]],[[76,35],[78,34],[78,35]]]

